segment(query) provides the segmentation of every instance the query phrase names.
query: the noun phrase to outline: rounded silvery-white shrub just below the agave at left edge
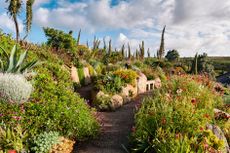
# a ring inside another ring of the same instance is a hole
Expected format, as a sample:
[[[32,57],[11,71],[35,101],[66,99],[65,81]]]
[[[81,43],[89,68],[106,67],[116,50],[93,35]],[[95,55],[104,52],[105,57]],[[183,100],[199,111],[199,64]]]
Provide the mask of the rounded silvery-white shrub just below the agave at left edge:
[[[0,100],[22,104],[29,99],[32,90],[23,75],[0,73]]]

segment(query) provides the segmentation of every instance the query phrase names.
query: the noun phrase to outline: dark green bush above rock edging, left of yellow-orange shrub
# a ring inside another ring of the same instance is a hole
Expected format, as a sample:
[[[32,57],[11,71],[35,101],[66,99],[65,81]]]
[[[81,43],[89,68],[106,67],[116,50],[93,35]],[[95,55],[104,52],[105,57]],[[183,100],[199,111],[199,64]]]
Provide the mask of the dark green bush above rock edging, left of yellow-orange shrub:
[[[120,77],[108,73],[106,75],[97,76],[95,78],[94,85],[96,90],[115,94],[121,92],[124,82]]]

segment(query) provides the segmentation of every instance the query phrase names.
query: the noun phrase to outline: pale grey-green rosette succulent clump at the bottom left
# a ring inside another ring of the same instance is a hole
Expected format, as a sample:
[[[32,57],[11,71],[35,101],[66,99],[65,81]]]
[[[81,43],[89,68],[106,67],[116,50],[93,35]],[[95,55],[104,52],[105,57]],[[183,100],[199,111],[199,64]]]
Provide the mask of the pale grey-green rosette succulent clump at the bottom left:
[[[58,132],[43,132],[34,138],[31,150],[35,153],[48,153],[52,146],[58,143]]]

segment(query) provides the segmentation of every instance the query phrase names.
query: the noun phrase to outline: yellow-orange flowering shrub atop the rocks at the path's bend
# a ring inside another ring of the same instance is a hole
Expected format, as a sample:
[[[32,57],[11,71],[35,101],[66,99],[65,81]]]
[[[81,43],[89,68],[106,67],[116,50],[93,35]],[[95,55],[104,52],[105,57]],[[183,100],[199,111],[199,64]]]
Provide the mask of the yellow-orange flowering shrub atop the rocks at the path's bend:
[[[119,69],[113,72],[115,76],[120,77],[125,83],[136,86],[137,73],[131,69]]]

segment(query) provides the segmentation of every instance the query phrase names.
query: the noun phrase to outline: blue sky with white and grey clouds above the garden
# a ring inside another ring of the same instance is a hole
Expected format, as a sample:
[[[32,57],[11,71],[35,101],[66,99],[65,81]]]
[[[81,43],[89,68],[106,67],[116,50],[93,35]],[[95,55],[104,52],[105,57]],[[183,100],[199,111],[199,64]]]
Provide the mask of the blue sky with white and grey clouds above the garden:
[[[26,1],[26,0],[23,0]],[[14,34],[14,24],[0,0],[0,29]],[[25,8],[19,16],[23,37]],[[53,27],[77,36],[81,43],[92,43],[94,36],[112,39],[114,48],[130,43],[133,50],[142,40],[151,55],[160,46],[166,25],[165,49],[176,49],[181,56],[196,52],[209,56],[230,56],[229,0],[35,0],[33,25],[28,40],[47,39],[42,27]]]

